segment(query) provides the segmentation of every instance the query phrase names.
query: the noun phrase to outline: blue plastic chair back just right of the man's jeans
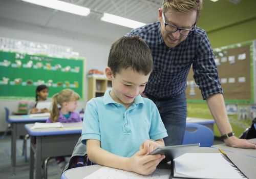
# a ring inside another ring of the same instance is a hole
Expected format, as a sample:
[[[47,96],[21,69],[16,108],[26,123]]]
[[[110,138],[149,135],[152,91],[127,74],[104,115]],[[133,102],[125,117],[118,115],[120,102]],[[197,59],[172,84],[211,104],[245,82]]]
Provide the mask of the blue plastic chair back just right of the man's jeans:
[[[200,143],[200,147],[211,147],[214,143],[214,132],[204,125],[186,123],[182,144]]]

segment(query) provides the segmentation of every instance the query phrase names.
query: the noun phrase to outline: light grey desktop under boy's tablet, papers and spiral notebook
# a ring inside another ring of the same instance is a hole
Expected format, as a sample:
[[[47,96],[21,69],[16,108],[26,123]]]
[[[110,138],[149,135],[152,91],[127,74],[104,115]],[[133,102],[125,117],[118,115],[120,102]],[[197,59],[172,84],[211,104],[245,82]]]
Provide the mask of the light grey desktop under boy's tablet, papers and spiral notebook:
[[[190,151],[191,153],[219,153],[219,151],[215,148],[210,147],[198,147]],[[226,153],[228,158],[237,165],[237,167],[249,178],[253,179],[256,176],[255,166],[256,166],[256,159],[251,158],[249,156],[242,156],[236,155],[234,153]],[[100,165],[92,165],[86,167],[78,167],[66,170],[62,173],[61,179],[82,179],[83,177],[88,176],[89,174],[93,173],[94,171],[98,170],[102,166]],[[247,168],[250,169],[247,169]],[[161,177],[159,177],[161,178]],[[175,177],[174,177],[175,178]]]

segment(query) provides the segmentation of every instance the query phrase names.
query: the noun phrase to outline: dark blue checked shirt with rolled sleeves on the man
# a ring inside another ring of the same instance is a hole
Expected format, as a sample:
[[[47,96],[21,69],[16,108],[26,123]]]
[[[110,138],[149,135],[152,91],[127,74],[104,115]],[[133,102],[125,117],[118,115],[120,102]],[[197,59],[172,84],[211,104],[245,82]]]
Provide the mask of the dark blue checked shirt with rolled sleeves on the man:
[[[139,35],[152,51],[154,70],[144,93],[155,98],[169,98],[182,94],[191,64],[194,78],[203,99],[223,93],[217,67],[206,32],[199,27],[174,48],[168,48],[160,32],[160,23],[152,23],[132,30],[126,36]]]

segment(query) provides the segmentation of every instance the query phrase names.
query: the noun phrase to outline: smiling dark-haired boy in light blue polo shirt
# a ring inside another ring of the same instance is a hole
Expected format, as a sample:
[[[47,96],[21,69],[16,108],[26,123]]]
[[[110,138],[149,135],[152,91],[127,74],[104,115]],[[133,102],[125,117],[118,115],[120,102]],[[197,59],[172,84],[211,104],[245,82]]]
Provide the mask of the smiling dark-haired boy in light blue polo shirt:
[[[139,36],[112,44],[105,68],[112,89],[87,103],[83,119],[82,143],[91,162],[147,175],[165,158],[148,155],[167,137],[156,105],[140,96],[152,70],[151,50]]]

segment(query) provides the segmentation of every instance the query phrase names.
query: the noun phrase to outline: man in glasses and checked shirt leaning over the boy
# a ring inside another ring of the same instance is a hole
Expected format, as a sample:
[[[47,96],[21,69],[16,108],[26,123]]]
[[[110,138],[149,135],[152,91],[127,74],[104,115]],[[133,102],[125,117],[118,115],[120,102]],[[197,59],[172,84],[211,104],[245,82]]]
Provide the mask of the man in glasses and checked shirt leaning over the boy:
[[[233,136],[214,54],[206,32],[196,27],[202,0],[164,0],[159,21],[132,30],[150,46],[154,71],[144,97],[152,99],[168,132],[165,145],[182,144],[186,124],[186,78],[193,64],[194,78],[226,145],[254,148],[255,143]]]

